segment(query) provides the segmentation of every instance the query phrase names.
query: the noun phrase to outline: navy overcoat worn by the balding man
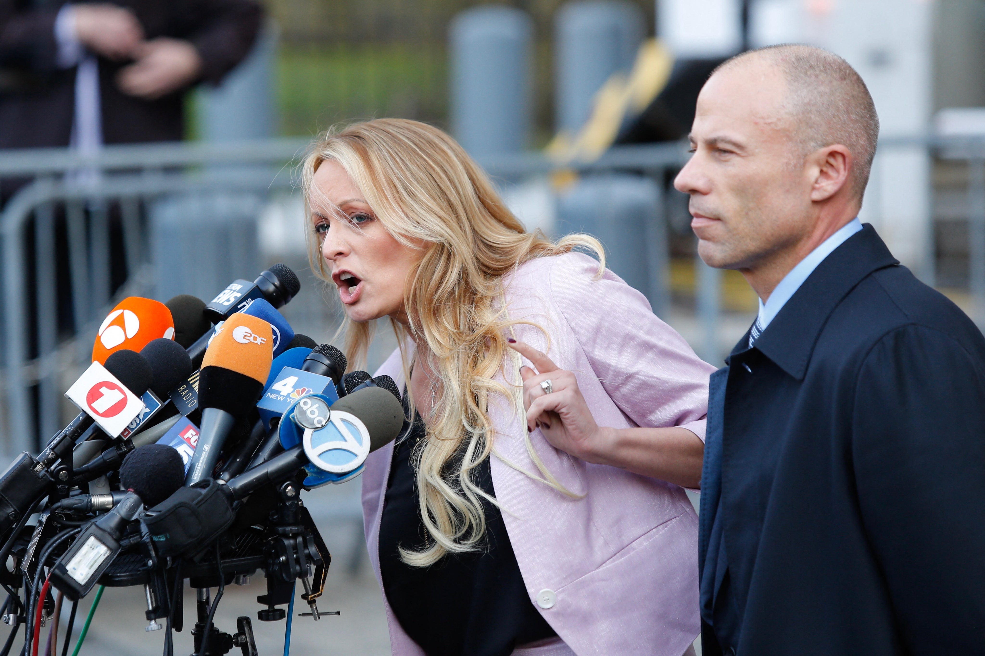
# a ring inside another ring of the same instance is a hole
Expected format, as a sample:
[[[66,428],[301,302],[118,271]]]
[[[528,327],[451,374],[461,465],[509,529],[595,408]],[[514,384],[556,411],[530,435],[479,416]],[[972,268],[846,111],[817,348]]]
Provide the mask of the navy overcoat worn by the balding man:
[[[985,339],[871,225],[712,374],[704,656],[985,653]]]

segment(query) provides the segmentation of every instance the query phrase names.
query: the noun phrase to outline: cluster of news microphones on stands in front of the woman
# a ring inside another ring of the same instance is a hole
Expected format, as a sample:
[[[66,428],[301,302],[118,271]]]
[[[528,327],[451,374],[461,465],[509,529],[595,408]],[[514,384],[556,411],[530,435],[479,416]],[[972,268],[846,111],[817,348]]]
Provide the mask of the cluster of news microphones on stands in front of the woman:
[[[22,625],[18,651],[56,654],[67,599],[65,656],[78,600],[97,585],[97,601],[105,586],[144,586],[146,628],[166,627],[165,656],[186,581],[197,656],[257,654],[248,616],[234,633],[213,619],[225,586],[258,570],[258,619],[287,618],[288,645],[298,581],[301,615],[325,615],[316,600],[331,557],[300,493],[358,476],[405,413],[392,379],[347,374],[337,348],[295,333],[278,308],[299,287],[275,265],[208,304],[130,297],[106,316],[92,365],[65,394],[81,412],[0,474],[0,615],[13,626],[0,656]]]

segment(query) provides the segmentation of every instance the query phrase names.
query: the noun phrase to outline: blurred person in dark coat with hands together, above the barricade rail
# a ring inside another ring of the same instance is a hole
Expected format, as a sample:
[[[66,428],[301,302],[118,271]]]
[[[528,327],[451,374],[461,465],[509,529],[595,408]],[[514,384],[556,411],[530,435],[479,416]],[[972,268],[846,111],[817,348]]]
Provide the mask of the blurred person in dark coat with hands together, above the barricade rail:
[[[253,0],[0,0],[0,149],[179,141],[184,94],[249,52]]]

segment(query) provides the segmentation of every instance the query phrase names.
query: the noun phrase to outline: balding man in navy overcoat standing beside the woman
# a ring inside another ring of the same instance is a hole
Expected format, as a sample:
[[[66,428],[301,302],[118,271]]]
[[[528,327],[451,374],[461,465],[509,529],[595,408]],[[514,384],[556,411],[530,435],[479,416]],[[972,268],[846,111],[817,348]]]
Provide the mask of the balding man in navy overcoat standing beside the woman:
[[[711,377],[703,656],[985,652],[985,339],[859,222],[878,135],[818,48],[740,55],[698,97],[675,186],[759,297]]]

